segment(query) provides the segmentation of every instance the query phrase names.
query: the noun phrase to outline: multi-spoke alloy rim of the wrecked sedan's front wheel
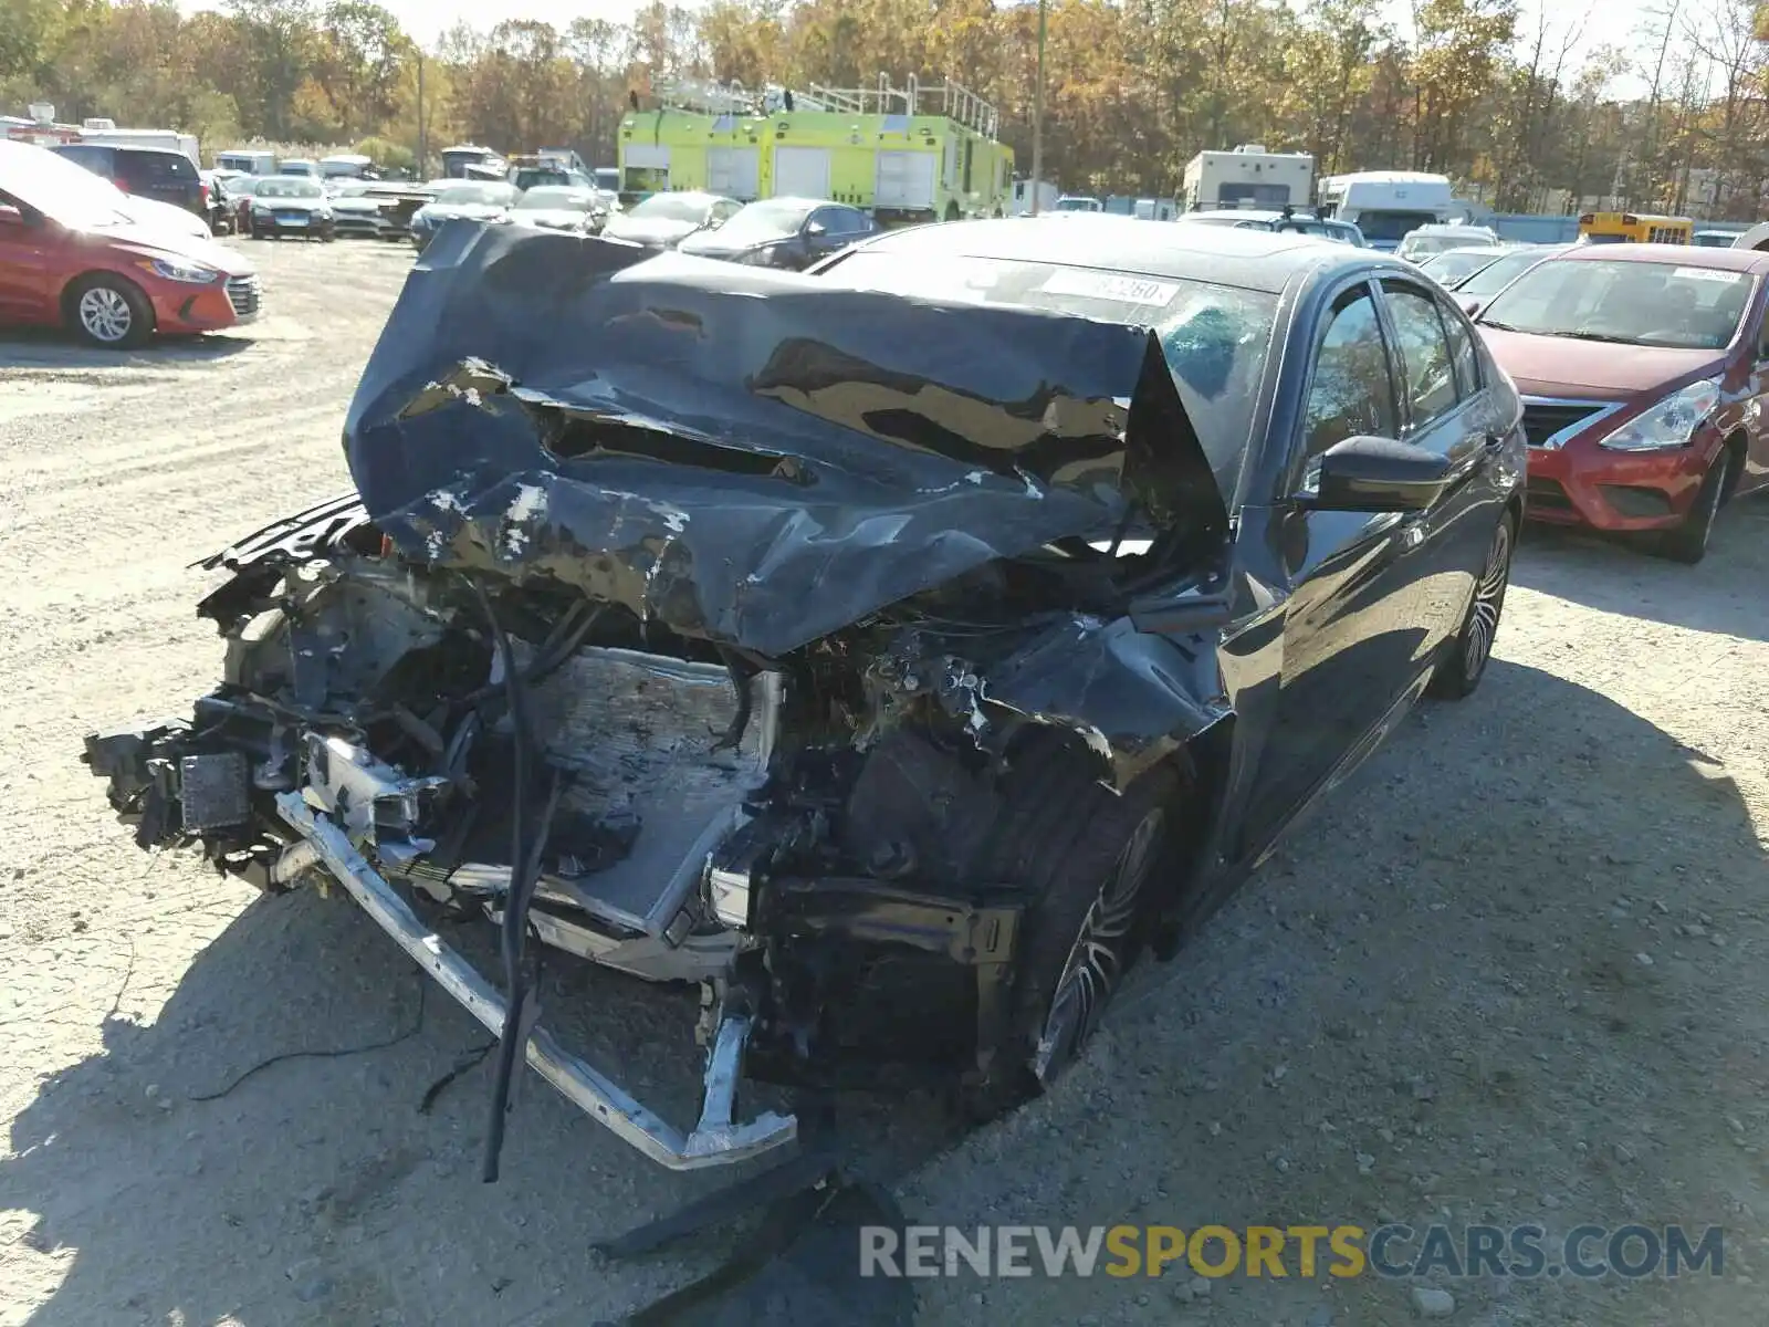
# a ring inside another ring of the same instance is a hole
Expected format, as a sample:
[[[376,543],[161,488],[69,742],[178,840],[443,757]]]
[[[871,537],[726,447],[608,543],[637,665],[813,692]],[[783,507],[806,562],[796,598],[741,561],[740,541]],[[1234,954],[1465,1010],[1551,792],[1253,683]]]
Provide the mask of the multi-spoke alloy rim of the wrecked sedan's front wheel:
[[[1137,823],[1081,920],[1033,1053],[1031,1072],[1040,1083],[1049,1083],[1061,1072],[1093,1033],[1123,977],[1130,929],[1136,925],[1143,886],[1155,865],[1164,826],[1166,812],[1160,809],[1150,810]]]

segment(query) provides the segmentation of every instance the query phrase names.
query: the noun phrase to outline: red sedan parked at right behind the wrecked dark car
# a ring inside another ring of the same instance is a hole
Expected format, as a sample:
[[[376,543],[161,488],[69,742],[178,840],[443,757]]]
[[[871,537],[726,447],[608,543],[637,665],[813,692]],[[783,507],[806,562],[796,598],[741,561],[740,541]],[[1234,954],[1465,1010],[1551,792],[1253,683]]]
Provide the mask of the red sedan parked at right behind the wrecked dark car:
[[[1765,276],[1748,249],[1580,246],[1493,297],[1475,326],[1523,395],[1530,518],[1702,561],[1769,485]]]

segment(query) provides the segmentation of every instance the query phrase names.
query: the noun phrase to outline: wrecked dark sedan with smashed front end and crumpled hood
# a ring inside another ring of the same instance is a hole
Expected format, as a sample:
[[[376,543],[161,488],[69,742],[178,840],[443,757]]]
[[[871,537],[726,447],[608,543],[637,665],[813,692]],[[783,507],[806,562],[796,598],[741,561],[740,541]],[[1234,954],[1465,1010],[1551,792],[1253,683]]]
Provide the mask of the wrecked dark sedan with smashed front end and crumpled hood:
[[[345,451],[356,492],[203,563],[218,688],[87,759],[142,846],[348,890],[501,1035],[494,1132],[525,1058],[670,1168],[794,1138],[745,1074],[1051,1081],[1475,687],[1525,469],[1429,280],[1127,218],[808,274],[451,225]],[[541,947],[701,986],[692,1129],[536,1023]]]

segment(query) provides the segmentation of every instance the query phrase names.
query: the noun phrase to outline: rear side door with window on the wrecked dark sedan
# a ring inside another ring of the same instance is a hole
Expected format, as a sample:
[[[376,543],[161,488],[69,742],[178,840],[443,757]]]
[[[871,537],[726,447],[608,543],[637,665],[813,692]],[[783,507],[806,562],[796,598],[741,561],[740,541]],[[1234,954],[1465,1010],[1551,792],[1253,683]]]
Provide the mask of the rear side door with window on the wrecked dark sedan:
[[[1401,387],[1401,439],[1452,465],[1436,506],[1405,520],[1403,538],[1419,550],[1410,607],[1421,628],[1415,664],[1424,667],[1445,637],[1459,632],[1486,564],[1504,502],[1497,474],[1504,423],[1461,310],[1422,281],[1390,276],[1380,285]]]

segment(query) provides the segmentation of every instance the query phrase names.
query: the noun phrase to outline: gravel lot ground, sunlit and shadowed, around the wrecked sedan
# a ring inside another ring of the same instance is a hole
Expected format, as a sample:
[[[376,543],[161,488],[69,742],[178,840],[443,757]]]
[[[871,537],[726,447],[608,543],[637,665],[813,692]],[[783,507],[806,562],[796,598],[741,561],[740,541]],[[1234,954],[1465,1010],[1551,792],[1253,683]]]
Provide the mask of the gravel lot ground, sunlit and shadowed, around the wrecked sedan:
[[[345,403],[409,251],[249,246],[265,318],[110,357],[0,341],[0,1322],[573,1323],[709,1253],[587,1242],[709,1180],[529,1079],[478,1184],[476,1024],[341,901],[149,860],[80,738],[218,667],[186,564],[345,487]],[[1765,1316],[1769,502],[1695,570],[1523,548],[1481,694],[1415,713],[1058,1092],[964,1136],[847,1102],[929,1223],[1727,1228],[1725,1276],[1433,1281],[1452,1320]],[[555,964],[548,1021],[678,1115],[692,1010]],[[414,1030],[416,1028],[416,1030]],[[409,1033],[409,1035],[405,1035]],[[265,1069],[269,1055],[382,1049]],[[1551,1247],[1551,1239],[1550,1239]],[[922,1283],[927,1323],[1401,1323],[1413,1285]]]

